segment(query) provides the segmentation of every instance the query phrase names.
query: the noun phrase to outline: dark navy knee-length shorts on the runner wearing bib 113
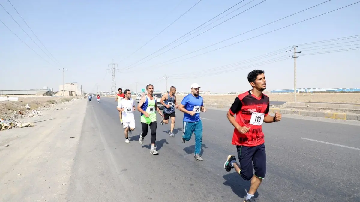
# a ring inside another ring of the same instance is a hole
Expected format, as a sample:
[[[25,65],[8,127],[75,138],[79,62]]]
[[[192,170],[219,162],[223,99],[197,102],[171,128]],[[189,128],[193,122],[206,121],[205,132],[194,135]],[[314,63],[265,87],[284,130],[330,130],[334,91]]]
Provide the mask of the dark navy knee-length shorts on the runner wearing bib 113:
[[[240,175],[245,180],[251,180],[253,169],[258,178],[265,178],[266,174],[266,152],[265,143],[255,147],[236,146],[238,150]],[[252,166],[252,163],[254,167]]]

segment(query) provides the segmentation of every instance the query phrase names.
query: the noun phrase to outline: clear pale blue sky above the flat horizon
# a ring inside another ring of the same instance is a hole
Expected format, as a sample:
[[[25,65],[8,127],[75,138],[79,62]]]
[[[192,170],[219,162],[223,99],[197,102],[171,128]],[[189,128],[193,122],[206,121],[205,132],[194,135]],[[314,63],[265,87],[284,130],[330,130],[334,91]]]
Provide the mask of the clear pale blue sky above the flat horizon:
[[[267,89],[289,89],[293,45],[301,51],[298,88],[359,88],[359,79],[349,75],[360,74],[360,3],[315,17],[358,2],[318,5],[325,1],[0,0],[27,33],[0,6],[0,20],[11,29],[0,22],[0,89],[57,91],[63,83],[59,69],[65,68],[66,83],[77,82],[85,92],[110,91],[112,62],[116,89],[141,91],[151,83],[165,91],[167,82],[177,91],[198,83],[203,91],[240,92],[250,89],[247,74],[253,69],[265,70]],[[324,40],[330,41],[312,43]]]

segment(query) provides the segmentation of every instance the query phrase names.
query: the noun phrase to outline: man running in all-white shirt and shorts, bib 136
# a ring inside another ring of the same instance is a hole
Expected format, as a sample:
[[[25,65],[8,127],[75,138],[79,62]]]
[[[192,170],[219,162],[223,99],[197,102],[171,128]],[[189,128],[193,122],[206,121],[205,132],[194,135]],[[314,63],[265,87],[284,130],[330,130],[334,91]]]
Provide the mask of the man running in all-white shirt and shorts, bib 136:
[[[130,143],[129,136],[131,136],[131,131],[135,130],[135,101],[131,98],[131,91],[126,89],[124,91],[125,98],[119,101],[117,105],[117,110],[122,112],[122,117],[124,118],[124,133],[125,133],[125,142]]]

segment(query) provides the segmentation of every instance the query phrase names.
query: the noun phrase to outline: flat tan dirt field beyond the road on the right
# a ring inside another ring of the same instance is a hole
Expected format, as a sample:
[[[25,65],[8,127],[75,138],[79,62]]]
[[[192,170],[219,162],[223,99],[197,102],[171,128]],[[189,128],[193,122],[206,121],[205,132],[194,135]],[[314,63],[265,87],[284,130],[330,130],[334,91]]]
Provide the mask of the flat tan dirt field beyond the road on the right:
[[[266,94],[270,101],[293,102],[294,94]],[[201,94],[204,101],[209,99],[234,100],[238,95],[206,95]],[[177,95],[178,100],[182,100],[184,95]],[[296,96],[297,102],[329,102],[329,103],[348,103],[360,104],[360,93],[299,93]]]

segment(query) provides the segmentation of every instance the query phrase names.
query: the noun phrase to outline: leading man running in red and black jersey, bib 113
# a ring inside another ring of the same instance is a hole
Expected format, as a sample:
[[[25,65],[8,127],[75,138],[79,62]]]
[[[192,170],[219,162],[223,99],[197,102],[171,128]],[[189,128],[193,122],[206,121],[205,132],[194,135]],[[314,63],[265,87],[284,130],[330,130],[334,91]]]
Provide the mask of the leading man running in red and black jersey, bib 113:
[[[269,115],[270,99],[262,93],[266,89],[264,71],[253,70],[248,74],[248,81],[252,90],[235,98],[227,114],[234,126],[232,144],[237,147],[239,164],[234,155],[229,155],[224,168],[227,172],[234,168],[244,180],[251,180],[244,202],[255,202],[254,194],[266,174],[265,140],[261,124],[280,121],[281,114],[276,112],[275,116]]]

